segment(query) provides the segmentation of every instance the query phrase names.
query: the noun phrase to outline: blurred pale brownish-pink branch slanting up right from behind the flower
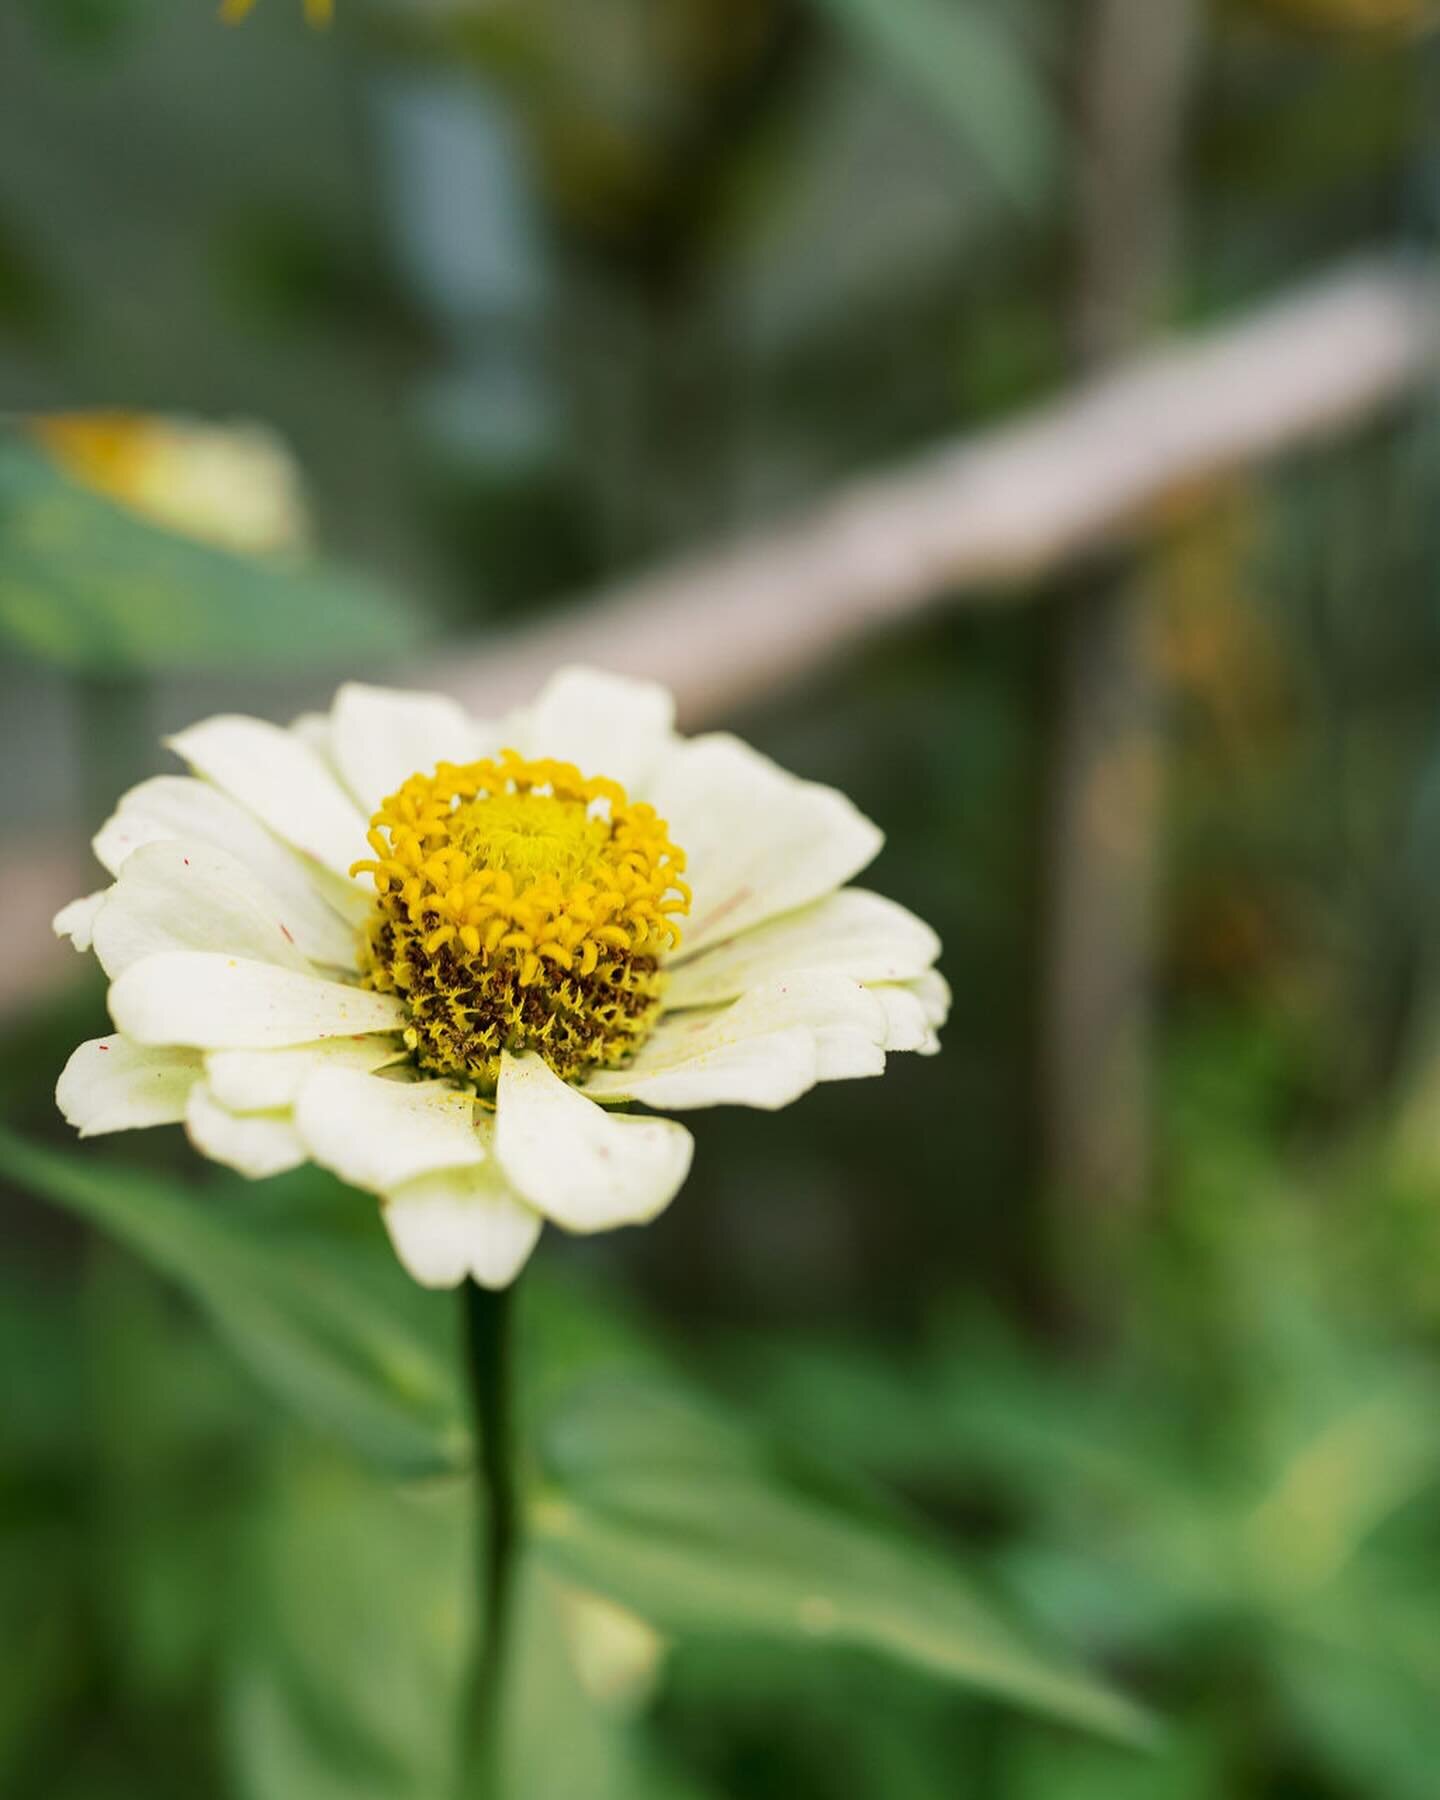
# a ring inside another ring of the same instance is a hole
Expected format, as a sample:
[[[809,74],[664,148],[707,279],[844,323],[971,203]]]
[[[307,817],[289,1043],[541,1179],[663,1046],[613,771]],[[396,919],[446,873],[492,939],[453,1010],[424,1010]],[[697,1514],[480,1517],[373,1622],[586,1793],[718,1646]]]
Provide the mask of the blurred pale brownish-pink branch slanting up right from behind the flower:
[[[1184,490],[1355,425],[1440,367],[1440,275],[1346,266],[1082,382],[814,511],[416,670],[479,713],[560,661],[652,675],[688,724],[774,693],[938,605],[1028,598],[1134,542]]]

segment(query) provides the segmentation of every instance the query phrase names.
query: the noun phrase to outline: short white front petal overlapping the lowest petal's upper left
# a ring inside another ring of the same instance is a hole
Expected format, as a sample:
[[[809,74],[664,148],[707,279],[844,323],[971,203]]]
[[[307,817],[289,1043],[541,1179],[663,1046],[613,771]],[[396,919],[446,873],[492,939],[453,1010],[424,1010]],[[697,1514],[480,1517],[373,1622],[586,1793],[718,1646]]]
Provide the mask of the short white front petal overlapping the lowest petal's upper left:
[[[301,1087],[295,1127],[317,1163],[371,1193],[437,1168],[473,1168],[488,1154],[473,1098],[448,1082],[320,1069]]]

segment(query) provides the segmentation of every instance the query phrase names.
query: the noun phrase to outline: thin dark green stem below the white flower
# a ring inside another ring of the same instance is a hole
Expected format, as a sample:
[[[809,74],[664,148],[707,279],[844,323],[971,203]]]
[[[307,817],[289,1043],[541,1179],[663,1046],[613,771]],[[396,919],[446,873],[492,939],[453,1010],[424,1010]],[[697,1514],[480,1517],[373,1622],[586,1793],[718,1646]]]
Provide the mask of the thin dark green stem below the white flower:
[[[475,1420],[477,1625],[463,1696],[461,1800],[502,1800],[504,1679],[513,1602],[515,1499],[513,1287],[463,1289],[464,1354]]]

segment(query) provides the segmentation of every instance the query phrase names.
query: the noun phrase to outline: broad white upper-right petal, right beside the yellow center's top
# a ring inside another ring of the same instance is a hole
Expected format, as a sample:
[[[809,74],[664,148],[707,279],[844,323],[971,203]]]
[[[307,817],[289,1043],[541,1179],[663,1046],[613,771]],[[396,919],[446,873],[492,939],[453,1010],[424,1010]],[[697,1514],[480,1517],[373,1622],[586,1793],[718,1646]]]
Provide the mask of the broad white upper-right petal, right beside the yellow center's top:
[[[799,781],[740,738],[691,738],[666,756],[650,801],[686,851],[695,889],[682,954],[832,893],[884,842],[844,794]]]

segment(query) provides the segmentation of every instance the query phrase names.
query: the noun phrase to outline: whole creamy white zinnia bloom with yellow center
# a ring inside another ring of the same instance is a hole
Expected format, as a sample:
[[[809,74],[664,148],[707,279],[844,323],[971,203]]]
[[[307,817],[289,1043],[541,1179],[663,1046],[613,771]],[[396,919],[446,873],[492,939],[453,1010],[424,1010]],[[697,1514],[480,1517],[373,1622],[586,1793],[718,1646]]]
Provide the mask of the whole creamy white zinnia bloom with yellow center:
[[[671,716],[567,670],[499,724],[351,684],[288,731],[182,731],[191,774],[124,796],[113,886],[56,920],[117,1033],[70,1057],[61,1112],[182,1120],[245,1175],[315,1161],[380,1195],[418,1282],[502,1287],[542,1220],[675,1197],[689,1132],[619,1105],[774,1109],[934,1051],[934,932],[844,886],[880,832]]]

